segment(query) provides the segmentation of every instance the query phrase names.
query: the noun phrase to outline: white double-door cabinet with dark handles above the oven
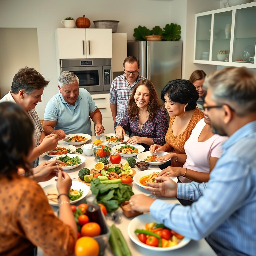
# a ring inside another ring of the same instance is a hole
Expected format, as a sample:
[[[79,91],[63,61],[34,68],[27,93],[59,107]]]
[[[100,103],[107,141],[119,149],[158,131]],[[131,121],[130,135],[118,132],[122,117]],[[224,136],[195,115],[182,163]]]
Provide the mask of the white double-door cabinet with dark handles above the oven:
[[[57,60],[112,58],[111,29],[58,28]]]

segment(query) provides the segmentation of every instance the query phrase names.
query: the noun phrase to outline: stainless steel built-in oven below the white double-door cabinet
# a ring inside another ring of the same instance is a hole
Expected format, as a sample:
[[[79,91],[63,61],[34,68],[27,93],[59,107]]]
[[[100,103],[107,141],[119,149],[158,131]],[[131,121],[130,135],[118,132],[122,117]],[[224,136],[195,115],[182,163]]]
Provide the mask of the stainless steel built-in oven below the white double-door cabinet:
[[[92,93],[110,91],[111,59],[60,60],[61,72],[71,71],[79,78],[79,87]]]

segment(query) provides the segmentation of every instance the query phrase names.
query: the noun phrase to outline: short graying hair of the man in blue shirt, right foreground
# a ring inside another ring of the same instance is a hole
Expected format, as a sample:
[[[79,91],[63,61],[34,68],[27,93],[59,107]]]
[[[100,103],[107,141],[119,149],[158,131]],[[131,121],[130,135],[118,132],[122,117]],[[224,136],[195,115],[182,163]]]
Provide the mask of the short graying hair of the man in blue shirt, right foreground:
[[[211,73],[205,86],[212,89],[217,104],[228,104],[239,116],[256,112],[256,74],[249,69],[229,67]]]

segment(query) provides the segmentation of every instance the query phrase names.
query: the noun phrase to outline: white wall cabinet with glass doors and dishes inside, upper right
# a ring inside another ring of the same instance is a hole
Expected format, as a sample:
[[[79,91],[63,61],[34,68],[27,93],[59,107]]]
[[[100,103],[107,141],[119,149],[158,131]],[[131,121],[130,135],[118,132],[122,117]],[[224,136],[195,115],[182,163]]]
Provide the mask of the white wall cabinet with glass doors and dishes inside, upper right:
[[[255,17],[256,2],[196,14],[194,63],[256,68]]]

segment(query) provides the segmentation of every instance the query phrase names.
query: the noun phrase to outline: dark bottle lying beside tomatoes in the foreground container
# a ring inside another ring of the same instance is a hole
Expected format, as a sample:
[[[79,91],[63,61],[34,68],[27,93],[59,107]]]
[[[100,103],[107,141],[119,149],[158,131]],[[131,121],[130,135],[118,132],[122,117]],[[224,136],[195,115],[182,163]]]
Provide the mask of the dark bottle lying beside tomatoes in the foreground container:
[[[101,227],[101,235],[106,234],[108,232],[106,227],[106,222],[103,219],[103,213],[100,209],[100,206],[97,203],[96,196],[89,195],[86,198],[88,209],[87,216],[89,217],[90,222],[96,222]]]

